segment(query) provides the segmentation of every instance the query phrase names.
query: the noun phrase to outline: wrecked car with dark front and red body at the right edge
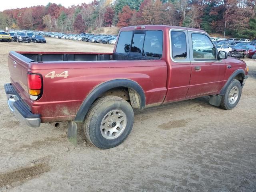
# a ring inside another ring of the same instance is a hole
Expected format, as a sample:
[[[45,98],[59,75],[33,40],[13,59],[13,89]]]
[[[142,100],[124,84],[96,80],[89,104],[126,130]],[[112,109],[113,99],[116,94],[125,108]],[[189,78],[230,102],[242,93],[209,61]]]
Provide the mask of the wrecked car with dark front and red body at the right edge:
[[[232,51],[231,56],[235,58],[252,58],[256,53],[256,48],[253,45],[240,46]]]

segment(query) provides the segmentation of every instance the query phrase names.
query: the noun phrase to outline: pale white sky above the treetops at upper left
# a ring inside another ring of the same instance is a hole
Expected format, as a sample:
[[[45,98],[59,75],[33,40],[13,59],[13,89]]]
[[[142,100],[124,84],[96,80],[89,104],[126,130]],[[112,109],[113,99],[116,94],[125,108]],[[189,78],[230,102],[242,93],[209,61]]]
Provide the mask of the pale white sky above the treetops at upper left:
[[[47,5],[49,2],[62,4],[64,7],[68,8],[71,5],[77,5],[81,3],[90,3],[92,0],[12,0],[11,3],[8,1],[3,1],[0,5],[0,11],[6,9],[24,8],[32,7],[37,5]]]

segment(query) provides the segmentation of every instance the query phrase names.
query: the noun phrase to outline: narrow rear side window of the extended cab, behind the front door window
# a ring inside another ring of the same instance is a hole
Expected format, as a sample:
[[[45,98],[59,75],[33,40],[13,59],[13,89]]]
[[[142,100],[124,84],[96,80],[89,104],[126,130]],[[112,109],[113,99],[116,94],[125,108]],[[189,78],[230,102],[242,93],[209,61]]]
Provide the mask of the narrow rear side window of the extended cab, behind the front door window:
[[[186,58],[187,57],[187,44],[186,35],[184,32],[172,31],[172,58]]]

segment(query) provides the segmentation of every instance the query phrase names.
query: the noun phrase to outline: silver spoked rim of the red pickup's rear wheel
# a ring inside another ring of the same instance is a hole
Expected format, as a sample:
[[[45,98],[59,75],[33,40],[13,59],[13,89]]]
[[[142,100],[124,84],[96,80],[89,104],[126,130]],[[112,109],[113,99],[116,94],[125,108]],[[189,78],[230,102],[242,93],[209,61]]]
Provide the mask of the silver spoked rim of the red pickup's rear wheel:
[[[100,124],[100,132],[106,139],[115,139],[124,132],[126,124],[126,114],[122,110],[111,110],[102,119]]]

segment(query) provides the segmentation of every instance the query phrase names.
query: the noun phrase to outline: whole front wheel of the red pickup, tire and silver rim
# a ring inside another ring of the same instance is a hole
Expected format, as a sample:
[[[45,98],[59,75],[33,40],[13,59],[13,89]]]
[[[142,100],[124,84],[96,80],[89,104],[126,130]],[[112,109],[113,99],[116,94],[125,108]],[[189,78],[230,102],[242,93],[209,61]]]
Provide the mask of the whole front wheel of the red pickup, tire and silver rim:
[[[221,98],[220,107],[225,110],[233,109],[238,104],[241,94],[242,86],[240,81],[233,79]]]

